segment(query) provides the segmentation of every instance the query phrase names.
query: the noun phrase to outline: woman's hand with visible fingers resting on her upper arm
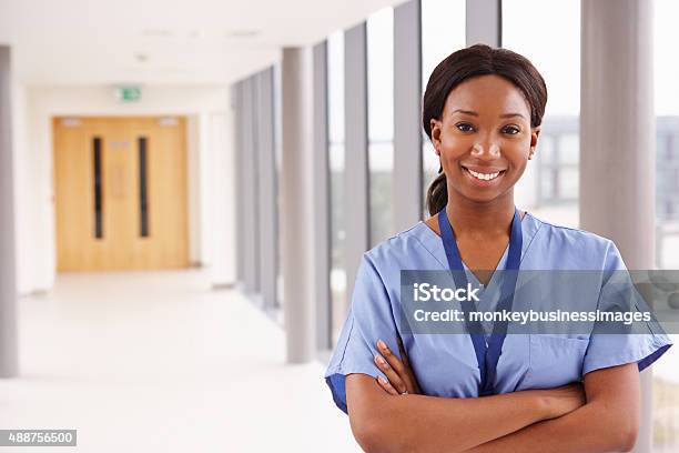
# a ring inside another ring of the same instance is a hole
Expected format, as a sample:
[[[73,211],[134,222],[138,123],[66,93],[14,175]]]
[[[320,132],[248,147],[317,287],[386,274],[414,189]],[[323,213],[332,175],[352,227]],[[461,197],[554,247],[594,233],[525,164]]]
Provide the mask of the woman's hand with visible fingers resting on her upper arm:
[[[377,340],[377,349],[382,355],[375,355],[375,364],[388,379],[388,381],[385,381],[384,378],[377,376],[377,383],[385,392],[392,395],[420,394],[422,392],[415,379],[415,373],[413,373],[411,368],[408,356],[405,353],[405,348],[403,348],[401,339],[397,339],[397,341],[402,360],[398,360],[389,351],[384,341]]]

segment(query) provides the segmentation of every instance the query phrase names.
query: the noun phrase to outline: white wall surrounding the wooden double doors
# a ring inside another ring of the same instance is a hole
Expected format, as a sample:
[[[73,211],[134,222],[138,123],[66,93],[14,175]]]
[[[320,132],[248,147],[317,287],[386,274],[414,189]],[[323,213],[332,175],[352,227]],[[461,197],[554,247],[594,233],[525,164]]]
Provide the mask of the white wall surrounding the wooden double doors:
[[[193,263],[210,264],[212,238],[233,232],[230,211],[213,231],[205,222],[212,207],[230,205],[227,193],[211,190],[215,173],[210,159],[233,153],[232,133],[211,133],[212,119],[231,117],[230,91],[222,87],[143,87],[142,100],[122,104],[111,87],[18,88],[14,102],[17,169],[18,286],[20,293],[49,290],[55,276],[52,130],[54,115],[188,115],[190,251]],[[219,121],[219,120],[217,120]],[[222,167],[223,168],[223,167]],[[207,169],[212,169],[207,171]],[[226,171],[226,169],[224,169]],[[206,234],[206,229],[210,234]],[[204,238],[203,238],[204,236]],[[223,246],[223,245],[222,245]],[[232,248],[233,250],[233,248]],[[226,268],[234,259],[227,256]],[[226,269],[225,274],[234,273]],[[222,272],[224,274],[224,272]]]

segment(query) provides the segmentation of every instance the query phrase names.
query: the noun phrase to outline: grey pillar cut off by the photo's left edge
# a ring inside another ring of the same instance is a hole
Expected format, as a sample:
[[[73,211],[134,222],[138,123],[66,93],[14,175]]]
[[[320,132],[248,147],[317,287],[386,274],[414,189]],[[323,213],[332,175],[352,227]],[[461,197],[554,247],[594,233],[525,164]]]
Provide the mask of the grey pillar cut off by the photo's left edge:
[[[19,374],[10,48],[0,46],[0,378]]]

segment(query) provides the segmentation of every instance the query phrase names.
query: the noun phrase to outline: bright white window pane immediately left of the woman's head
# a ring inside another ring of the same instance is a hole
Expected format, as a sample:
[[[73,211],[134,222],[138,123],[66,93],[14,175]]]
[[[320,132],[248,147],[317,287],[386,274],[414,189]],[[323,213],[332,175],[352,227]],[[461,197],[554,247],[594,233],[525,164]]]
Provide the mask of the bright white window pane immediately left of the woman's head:
[[[422,93],[436,66],[465,47],[465,0],[422,0]],[[438,157],[429,138],[423,131],[423,219],[429,217],[426,207],[427,190],[438,174]]]

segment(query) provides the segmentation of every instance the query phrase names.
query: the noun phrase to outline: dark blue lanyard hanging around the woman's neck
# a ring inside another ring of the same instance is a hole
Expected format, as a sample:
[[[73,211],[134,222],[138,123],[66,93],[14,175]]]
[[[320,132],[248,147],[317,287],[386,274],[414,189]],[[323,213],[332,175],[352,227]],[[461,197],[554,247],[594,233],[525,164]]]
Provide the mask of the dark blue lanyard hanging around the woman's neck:
[[[438,213],[438,226],[440,229],[440,239],[446,250],[446,258],[448,259],[448,266],[450,268],[453,279],[456,288],[467,288],[467,274],[465,273],[465,266],[463,265],[462,258],[459,256],[459,250],[455,242],[455,232],[448,221],[445,208]],[[509,252],[507,255],[507,266],[505,278],[503,279],[503,288],[500,292],[500,300],[497,305],[498,311],[510,311],[514,302],[514,291],[516,290],[516,278],[521,261],[521,220],[519,218],[518,210],[514,209],[514,219],[511,220],[511,234],[509,236]],[[462,309],[465,313],[465,322],[469,335],[472,336],[472,343],[474,344],[474,351],[476,352],[476,360],[478,362],[478,369],[480,371],[480,385],[479,395],[491,395],[495,394],[495,376],[497,372],[497,362],[503,351],[503,343],[507,334],[507,322],[496,322],[493,325],[493,333],[486,344],[484,338],[484,330],[478,320],[469,320],[469,312],[475,311],[474,302],[463,301]]]

